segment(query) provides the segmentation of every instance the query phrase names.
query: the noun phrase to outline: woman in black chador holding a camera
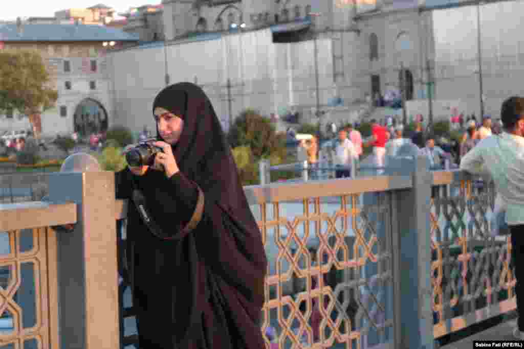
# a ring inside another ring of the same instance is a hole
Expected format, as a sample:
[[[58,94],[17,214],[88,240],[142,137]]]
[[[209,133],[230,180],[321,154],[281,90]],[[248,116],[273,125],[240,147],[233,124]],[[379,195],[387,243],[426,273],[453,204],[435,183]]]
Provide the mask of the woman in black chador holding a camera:
[[[219,119],[191,83],[163,89],[153,114],[163,152],[153,166],[115,177],[117,198],[130,199],[127,261],[140,348],[264,348],[267,260]]]

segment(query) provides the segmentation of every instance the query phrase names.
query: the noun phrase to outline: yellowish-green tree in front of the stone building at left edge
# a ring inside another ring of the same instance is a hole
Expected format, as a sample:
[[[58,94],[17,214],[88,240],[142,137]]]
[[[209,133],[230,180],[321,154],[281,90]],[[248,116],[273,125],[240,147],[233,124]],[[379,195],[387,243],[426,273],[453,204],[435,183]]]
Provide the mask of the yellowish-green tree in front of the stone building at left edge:
[[[40,115],[54,107],[58,91],[36,50],[0,51],[0,110],[18,110],[29,117],[38,138]]]

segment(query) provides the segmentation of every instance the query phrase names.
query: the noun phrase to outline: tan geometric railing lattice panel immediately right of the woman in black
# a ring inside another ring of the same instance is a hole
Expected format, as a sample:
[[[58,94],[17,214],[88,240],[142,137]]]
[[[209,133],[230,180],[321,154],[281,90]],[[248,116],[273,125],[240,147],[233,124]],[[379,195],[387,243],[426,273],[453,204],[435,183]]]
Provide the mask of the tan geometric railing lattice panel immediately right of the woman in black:
[[[269,261],[261,325],[268,348],[391,338],[389,194],[367,195],[374,204],[351,195],[254,210]]]

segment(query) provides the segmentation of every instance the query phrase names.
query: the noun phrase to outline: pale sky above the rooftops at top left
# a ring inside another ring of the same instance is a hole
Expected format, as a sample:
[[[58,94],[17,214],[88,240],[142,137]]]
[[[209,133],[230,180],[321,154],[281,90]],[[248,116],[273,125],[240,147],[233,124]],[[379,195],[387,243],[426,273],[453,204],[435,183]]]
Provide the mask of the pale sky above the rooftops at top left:
[[[5,0],[4,0],[5,1]],[[15,0],[9,1],[8,6],[2,6],[0,20],[15,20],[16,17],[53,17],[54,12],[68,8],[87,8],[96,4],[113,7],[117,13],[126,12],[129,7],[143,5],[157,5],[161,0]]]

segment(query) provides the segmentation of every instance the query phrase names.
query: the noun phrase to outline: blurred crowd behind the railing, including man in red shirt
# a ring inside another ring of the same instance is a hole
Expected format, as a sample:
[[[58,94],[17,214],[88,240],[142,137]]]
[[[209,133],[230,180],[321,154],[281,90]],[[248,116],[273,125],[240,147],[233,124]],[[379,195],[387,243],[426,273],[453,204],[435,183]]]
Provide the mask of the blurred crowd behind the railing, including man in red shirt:
[[[373,163],[377,167],[378,174],[383,173],[386,156],[396,156],[402,145],[408,143],[417,145],[420,154],[428,157],[431,170],[443,170],[446,160],[449,161],[451,168],[456,168],[462,157],[471,151],[479,141],[502,131],[500,120],[493,122],[490,116],[485,116],[479,125],[475,116],[472,115],[466,119],[461,140],[452,144],[445,138],[435,137],[425,132],[422,115],[417,115],[411,134],[406,134],[405,126],[391,116],[381,122],[373,119],[371,123],[372,134],[367,139],[364,139],[361,132],[357,130],[356,123],[340,128],[337,128],[334,123],[330,125],[331,132],[337,134],[333,140],[331,156],[335,165],[336,178],[351,176],[351,166],[361,160],[364,148],[372,148]],[[310,140],[301,140],[300,147],[305,150],[310,168],[313,170],[310,178],[318,178],[314,170],[318,168],[318,162],[321,160],[319,138],[313,136]]]

